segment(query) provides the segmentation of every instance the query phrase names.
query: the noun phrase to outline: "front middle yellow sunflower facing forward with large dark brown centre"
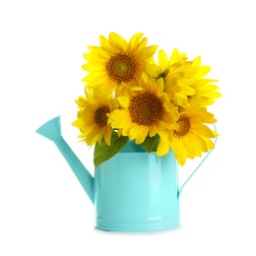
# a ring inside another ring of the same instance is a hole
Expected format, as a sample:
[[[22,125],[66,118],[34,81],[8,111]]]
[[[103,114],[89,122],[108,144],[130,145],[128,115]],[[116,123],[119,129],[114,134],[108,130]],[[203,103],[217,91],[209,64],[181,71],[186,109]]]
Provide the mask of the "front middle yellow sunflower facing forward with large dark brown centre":
[[[160,136],[157,149],[159,156],[167,154],[172,131],[177,129],[177,108],[171,104],[162,92],[162,80],[155,80],[143,73],[139,87],[127,90],[127,94],[118,96],[121,109],[107,114],[112,127],[119,129],[119,135],[128,136],[136,144],[142,144],[147,136]]]

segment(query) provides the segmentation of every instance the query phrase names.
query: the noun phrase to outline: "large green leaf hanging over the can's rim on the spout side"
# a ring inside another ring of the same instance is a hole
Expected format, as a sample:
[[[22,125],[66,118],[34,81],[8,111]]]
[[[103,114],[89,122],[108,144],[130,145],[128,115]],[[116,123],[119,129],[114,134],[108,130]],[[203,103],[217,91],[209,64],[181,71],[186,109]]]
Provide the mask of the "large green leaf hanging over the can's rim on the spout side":
[[[112,133],[111,136],[111,145],[106,145],[105,141],[102,140],[100,144],[96,143],[95,148],[95,167],[105,160],[109,160],[114,155],[116,155],[128,142],[128,137],[121,136],[119,137],[116,132]]]

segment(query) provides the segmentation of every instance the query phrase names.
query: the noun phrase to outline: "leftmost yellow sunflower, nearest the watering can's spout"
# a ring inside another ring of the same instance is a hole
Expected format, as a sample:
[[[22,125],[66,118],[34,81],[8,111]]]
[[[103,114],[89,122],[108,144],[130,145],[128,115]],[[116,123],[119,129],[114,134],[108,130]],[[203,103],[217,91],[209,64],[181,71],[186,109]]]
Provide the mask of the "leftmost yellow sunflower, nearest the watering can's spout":
[[[86,97],[79,96],[75,101],[78,104],[78,119],[73,122],[81,134],[78,138],[83,138],[88,146],[93,146],[96,142],[101,143],[102,138],[110,146],[112,127],[107,124],[107,113],[114,109],[111,95],[102,96],[94,92],[90,94],[85,91]]]

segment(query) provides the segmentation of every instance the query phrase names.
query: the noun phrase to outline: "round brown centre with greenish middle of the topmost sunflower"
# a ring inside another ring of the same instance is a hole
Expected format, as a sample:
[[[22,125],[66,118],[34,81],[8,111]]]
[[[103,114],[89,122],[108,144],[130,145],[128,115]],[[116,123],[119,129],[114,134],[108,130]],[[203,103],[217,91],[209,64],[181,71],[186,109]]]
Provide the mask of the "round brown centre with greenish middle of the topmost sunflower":
[[[137,64],[133,58],[124,54],[111,57],[106,64],[108,76],[119,84],[131,81],[136,71]]]

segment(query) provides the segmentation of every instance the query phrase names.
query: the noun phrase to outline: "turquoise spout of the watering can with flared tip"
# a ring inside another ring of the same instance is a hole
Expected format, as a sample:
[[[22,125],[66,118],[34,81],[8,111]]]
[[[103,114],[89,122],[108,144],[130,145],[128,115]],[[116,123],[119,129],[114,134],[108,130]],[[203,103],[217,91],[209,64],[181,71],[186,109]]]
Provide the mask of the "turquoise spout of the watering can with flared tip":
[[[94,204],[94,177],[63,139],[61,135],[60,116],[47,121],[35,132],[55,143]]]

